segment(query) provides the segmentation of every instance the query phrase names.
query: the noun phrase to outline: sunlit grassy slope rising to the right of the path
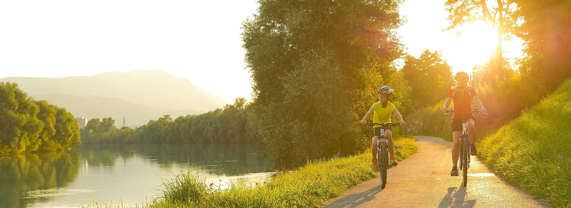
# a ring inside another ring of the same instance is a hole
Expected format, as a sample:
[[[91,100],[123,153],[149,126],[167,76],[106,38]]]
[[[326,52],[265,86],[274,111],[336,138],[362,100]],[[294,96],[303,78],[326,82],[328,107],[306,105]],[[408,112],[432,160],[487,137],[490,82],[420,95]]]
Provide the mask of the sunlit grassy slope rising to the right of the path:
[[[478,144],[478,157],[499,176],[571,207],[571,80]]]

